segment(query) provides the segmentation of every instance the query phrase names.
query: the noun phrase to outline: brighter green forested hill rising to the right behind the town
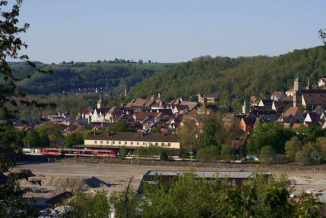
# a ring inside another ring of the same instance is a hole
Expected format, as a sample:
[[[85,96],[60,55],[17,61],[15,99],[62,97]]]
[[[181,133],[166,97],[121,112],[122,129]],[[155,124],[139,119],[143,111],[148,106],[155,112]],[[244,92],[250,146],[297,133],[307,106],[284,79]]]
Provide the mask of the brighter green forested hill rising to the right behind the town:
[[[149,98],[163,92],[164,99],[196,93],[223,92],[226,95],[258,95],[266,90],[286,91],[300,73],[303,84],[325,77],[326,51],[321,46],[294,50],[278,57],[196,58],[147,79],[128,93],[130,98]],[[317,88],[317,86],[313,86]]]

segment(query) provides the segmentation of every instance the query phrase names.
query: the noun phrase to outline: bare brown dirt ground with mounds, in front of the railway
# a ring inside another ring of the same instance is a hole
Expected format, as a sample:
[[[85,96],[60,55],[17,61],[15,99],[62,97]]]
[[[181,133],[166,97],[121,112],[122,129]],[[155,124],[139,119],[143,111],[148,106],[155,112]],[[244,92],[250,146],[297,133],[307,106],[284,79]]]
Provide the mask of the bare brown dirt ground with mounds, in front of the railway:
[[[258,167],[260,167],[258,165]],[[325,167],[324,169],[322,167]],[[260,167],[262,171],[269,171],[271,174],[279,177],[284,169],[289,180],[295,180],[296,191],[301,192],[307,189],[324,190],[326,189],[326,165],[324,166],[312,166],[305,169],[295,167],[279,167],[268,166]],[[116,163],[44,163],[26,161],[20,162],[13,170],[20,171],[22,169],[31,169],[32,175],[30,180],[38,179],[42,181],[42,185],[31,185],[26,181],[21,182],[22,187],[32,187],[35,191],[28,193],[24,197],[36,197],[37,204],[45,205],[45,201],[55,196],[58,193],[58,186],[64,183],[69,183],[69,179],[74,178],[73,183],[80,183],[83,188],[88,191],[106,190],[108,195],[113,191],[122,192],[128,185],[131,177],[132,189],[137,190],[143,175],[147,171],[184,171],[189,169],[188,163],[184,163],[184,166],[178,166],[173,164],[166,165],[152,165],[150,162],[147,165],[138,165],[137,161],[134,161],[131,165],[116,164]],[[226,164],[216,164],[207,167],[198,167],[194,164],[196,171],[255,171],[255,166],[234,164],[231,166]],[[61,179],[63,178],[63,179]],[[60,182],[60,179],[62,180]],[[71,182],[70,182],[71,183]]]

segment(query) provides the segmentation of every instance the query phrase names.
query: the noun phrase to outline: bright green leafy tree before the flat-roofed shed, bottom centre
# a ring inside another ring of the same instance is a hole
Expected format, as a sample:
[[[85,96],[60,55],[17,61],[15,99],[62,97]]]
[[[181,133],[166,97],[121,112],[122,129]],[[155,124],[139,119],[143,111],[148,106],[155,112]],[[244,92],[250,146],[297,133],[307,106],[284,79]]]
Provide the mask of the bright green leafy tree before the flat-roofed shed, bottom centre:
[[[145,193],[139,208],[144,217],[198,217],[204,208],[213,209],[219,203],[219,191],[225,184],[200,179],[193,169],[176,180],[163,181],[157,176],[153,182],[143,185]]]

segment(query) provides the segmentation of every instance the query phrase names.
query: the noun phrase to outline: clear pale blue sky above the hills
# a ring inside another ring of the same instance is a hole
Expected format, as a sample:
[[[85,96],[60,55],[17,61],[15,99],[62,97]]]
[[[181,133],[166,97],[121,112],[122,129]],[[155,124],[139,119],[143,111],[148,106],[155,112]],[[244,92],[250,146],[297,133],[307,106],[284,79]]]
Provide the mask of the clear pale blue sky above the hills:
[[[32,61],[182,62],[278,56],[321,45],[326,1],[24,0]]]

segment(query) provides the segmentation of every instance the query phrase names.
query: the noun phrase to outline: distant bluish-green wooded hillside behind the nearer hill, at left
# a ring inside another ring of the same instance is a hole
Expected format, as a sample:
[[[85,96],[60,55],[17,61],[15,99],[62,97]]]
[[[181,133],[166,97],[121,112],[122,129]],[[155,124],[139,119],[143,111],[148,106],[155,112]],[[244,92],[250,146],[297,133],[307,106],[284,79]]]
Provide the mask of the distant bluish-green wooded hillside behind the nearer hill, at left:
[[[146,65],[146,64],[144,64]],[[53,75],[41,75],[28,65],[13,66],[13,74],[17,77],[32,75],[31,79],[18,82],[18,87],[29,94],[62,93],[64,90],[88,87],[116,87],[121,93],[130,86],[143,81],[169,65],[155,63],[135,64],[58,64],[38,65],[41,69],[52,69]],[[0,81],[1,82],[1,81]]]

